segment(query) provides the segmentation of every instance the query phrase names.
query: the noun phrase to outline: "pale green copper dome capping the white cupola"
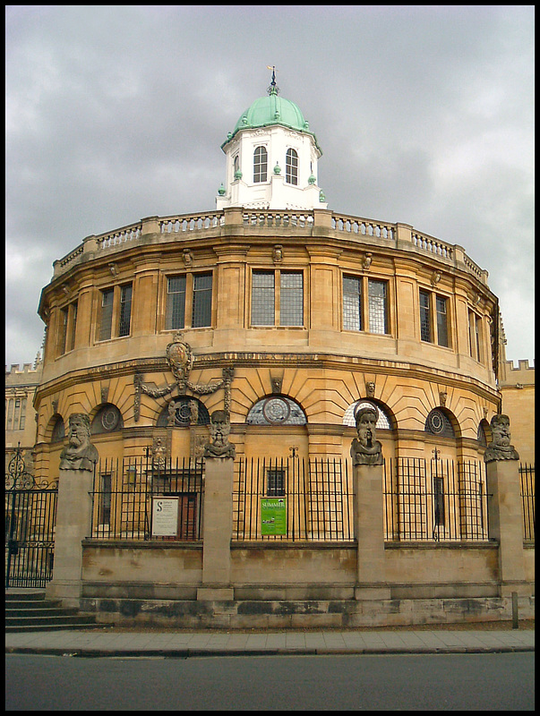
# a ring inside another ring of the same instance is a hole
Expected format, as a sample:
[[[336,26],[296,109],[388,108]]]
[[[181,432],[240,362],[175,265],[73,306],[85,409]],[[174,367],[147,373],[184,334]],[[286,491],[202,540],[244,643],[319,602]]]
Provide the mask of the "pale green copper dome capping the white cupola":
[[[235,129],[232,134],[227,135],[227,141],[221,146],[225,146],[236,132],[243,129],[255,129],[256,127],[268,127],[273,124],[289,127],[297,132],[305,132],[311,134],[315,141],[315,145],[319,151],[321,148],[317,144],[317,138],[310,132],[309,124],[304,120],[300,107],[298,107],[290,99],[279,97],[278,93],[273,90],[267,97],[255,99],[251,107],[240,115],[236,122]]]

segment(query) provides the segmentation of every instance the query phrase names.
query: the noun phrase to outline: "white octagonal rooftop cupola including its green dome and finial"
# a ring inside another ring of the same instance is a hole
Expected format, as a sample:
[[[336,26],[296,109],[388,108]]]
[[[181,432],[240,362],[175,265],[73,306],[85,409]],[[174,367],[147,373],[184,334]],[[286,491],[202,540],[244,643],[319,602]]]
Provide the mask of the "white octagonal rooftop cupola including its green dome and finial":
[[[216,205],[245,209],[326,209],[317,184],[322,152],[294,102],[279,97],[275,72],[268,96],[255,99],[221,145],[225,183]]]

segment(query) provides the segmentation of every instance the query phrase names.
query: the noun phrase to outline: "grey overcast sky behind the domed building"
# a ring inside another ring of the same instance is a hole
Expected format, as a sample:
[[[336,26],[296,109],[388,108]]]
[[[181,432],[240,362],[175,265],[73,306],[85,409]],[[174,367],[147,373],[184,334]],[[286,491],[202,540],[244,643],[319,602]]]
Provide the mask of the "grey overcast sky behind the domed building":
[[[89,234],[215,209],[220,144],[270,84],[329,209],[458,243],[507,358],[534,350],[534,7],[8,5],[6,355],[33,362],[52,263]]]

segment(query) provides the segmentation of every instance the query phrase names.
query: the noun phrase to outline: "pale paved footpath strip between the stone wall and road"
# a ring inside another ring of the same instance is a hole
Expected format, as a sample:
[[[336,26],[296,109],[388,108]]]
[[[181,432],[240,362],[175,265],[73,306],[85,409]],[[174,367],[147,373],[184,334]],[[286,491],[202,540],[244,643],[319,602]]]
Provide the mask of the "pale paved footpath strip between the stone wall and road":
[[[58,630],[8,632],[6,653],[81,657],[534,652],[534,629],[309,631]]]

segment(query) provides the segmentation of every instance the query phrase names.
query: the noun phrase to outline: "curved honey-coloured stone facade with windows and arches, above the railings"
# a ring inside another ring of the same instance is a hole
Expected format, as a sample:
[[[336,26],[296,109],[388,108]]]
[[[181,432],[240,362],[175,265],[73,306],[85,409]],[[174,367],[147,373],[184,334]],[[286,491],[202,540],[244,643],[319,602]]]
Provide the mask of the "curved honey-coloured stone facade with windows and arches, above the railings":
[[[499,411],[487,273],[405,224],[328,209],[150,217],[56,261],[39,315],[43,475],[57,471],[72,413],[99,415],[102,459],[141,455],[158,436],[171,456],[201,454],[202,408],[229,413],[236,456],[348,456],[345,415],[365,399],[388,416],[386,457],[436,447],[468,459]],[[169,345],[189,365],[171,362]],[[271,396],[281,402],[248,420]]]

